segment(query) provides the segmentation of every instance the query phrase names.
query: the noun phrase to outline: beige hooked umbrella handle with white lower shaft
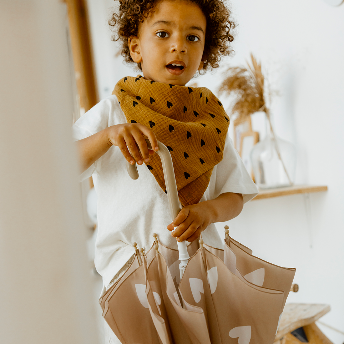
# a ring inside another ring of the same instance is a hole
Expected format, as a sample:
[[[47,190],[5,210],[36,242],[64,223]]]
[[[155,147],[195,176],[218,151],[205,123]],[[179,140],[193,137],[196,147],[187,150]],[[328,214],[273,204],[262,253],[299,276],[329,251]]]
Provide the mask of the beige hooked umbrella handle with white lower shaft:
[[[152,145],[148,139],[146,139],[146,143],[147,143],[148,148],[152,149]],[[162,142],[158,141],[158,147],[159,147],[159,150],[157,151],[157,153],[161,159],[162,170],[164,172],[164,178],[165,178],[165,184],[166,184],[166,192],[167,192],[167,197],[170,204],[170,213],[171,213],[171,217],[173,221],[174,218],[180,212],[180,203],[179,203],[179,198],[178,198],[178,190],[177,190],[177,184],[175,181],[172,158],[171,158],[170,151]],[[131,165],[129,164],[128,161],[126,161],[126,164],[127,164],[127,171],[130,178],[138,179],[139,172],[137,171],[136,162],[133,165]],[[179,269],[180,269],[180,273],[182,277],[187,261],[190,257],[189,257],[189,253],[187,252],[185,240],[182,243],[179,243],[177,241],[177,245],[178,245],[178,251],[179,251],[179,260],[181,261],[181,264],[179,265]]]

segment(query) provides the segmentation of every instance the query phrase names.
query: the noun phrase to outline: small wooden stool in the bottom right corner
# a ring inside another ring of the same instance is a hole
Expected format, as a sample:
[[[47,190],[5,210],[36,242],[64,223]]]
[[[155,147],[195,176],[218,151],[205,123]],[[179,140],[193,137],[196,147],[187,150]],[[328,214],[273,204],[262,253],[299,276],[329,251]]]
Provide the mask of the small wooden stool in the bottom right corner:
[[[286,304],[274,344],[333,344],[315,324],[316,320],[329,311],[330,306],[327,304]],[[295,330],[296,336],[291,334]],[[302,335],[307,337],[307,341]]]

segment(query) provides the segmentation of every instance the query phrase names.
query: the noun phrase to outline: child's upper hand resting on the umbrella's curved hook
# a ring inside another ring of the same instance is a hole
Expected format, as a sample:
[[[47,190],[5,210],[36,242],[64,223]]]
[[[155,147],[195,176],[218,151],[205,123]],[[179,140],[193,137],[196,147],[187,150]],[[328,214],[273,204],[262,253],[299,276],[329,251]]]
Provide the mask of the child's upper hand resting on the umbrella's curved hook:
[[[109,144],[118,146],[130,164],[134,164],[133,158],[139,165],[143,162],[148,162],[149,155],[153,155],[154,151],[159,149],[154,132],[140,123],[118,124],[108,127],[107,130]],[[149,139],[153,151],[148,149],[145,136]]]

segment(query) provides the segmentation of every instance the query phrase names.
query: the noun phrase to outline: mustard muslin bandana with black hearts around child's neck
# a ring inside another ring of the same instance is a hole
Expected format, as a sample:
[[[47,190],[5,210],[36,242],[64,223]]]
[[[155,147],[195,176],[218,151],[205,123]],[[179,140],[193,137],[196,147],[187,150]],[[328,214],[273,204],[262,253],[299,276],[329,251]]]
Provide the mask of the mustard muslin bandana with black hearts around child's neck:
[[[229,119],[221,102],[205,87],[158,83],[141,75],[121,79],[112,94],[128,123],[151,128],[169,149],[182,205],[198,203],[223,158]],[[166,192],[158,154],[146,165]]]

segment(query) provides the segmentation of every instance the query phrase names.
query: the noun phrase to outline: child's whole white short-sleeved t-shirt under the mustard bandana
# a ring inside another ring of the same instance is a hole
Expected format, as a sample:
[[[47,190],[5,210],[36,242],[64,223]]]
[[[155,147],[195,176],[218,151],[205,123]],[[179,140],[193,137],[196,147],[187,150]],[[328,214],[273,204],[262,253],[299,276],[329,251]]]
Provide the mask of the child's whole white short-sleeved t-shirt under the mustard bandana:
[[[73,137],[81,140],[121,123],[127,123],[126,117],[116,96],[111,95],[73,125]],[[176,239],[166,228],[172,222],[167,195],[146,165],[137,165],[137,169],[139,178],[132,180],[120,149],[112,146],[80,175],[81,180],[93,176],[98,196],[95,266],[103,276],[104,286],[132,257],[133,242],[148,250],[154,241],[152,234],[157,233],[161,243],[177,249]],[[241,193],[244,202],[258,193],[228,135],[223,160],[215,165],[200,202],[224,192]],[[203,231],[202,237],[207,245],[223,248],[214,224]]]

